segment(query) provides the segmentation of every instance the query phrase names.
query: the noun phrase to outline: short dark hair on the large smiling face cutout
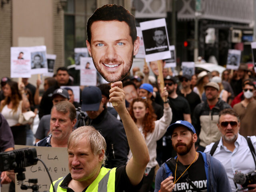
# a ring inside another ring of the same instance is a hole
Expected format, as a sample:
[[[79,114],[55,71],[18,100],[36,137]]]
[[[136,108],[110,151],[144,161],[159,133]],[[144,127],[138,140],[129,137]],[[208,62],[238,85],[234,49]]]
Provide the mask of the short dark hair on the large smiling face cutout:
[[[115,4],[107,4],[104,5],[94,11],[92,16],[88,19],[87,22],[87,38],[88,42],[91,43],[92,32],[91,27],[92,23],[96,21],[124,21],[128,24],[130,28],[130,36],[132,37],[132,42],[137,38],[137,30],[135,26],[135,19],[132,14],[128,10],[126,10],[123,6],[115,5]],[[111,30],[111,29],[110,29]]]

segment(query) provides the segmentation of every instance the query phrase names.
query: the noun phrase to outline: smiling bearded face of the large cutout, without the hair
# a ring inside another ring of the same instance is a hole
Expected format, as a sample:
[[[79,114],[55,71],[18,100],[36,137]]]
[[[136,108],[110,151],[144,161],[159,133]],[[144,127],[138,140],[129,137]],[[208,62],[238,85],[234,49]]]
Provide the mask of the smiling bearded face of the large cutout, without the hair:
[[[95,21],[91,26],[91,41],[86,45],[95,68],[108,82],[122,80],[132,67],[140,40],[132,43],[130,28],[124,21]]]

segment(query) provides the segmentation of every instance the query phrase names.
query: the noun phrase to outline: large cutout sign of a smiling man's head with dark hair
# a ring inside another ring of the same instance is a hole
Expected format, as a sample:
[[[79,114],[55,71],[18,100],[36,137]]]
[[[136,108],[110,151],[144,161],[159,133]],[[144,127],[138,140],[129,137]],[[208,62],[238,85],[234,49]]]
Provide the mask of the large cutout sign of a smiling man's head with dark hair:
[[[122,6],[104,5],[87,22],[86,45],[95,68],[108,82],[122,80],[138,53],[135,20]]]

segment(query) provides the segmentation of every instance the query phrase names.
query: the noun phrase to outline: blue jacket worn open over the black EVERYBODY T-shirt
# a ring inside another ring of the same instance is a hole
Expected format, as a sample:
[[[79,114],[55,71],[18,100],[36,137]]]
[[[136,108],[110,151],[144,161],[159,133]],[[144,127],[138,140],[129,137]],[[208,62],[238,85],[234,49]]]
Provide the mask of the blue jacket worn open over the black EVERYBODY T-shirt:
[[[204,159],[207,192],[232,192],[225,168],[220,161],[212,157],[210,154],[203,152],[200,153]],[[166,166],[166,163],[162,164],[156,174],[154,192],[158,192],[160,190],[161,182],[170,176],[171,173],[172,171]],[[192,177],[193,176],[190,176],[190,178]]]

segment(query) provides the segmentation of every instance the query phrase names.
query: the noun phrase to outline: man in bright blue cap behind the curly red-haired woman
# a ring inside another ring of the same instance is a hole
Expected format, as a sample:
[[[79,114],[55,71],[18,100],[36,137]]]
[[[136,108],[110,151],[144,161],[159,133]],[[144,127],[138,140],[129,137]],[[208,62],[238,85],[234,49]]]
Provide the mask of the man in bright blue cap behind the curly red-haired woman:
[[[164,108],[160,104],[157,104],[156,102],[154,102],[154,100],[152,100],[154,99],[154,97],[152,96],[153,89],[154,88],[151,84],[143,83],[139,89],[139,97],[145,97],[148,100],[149,104],[151,104],[154,109],[157,120],[159,120],[164,114]]]

